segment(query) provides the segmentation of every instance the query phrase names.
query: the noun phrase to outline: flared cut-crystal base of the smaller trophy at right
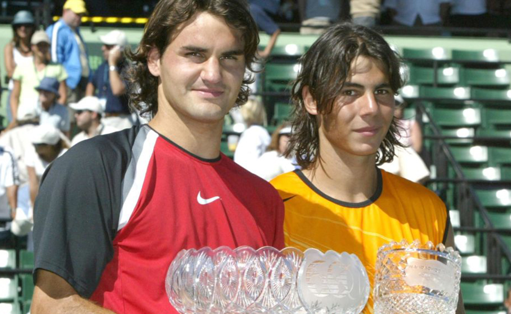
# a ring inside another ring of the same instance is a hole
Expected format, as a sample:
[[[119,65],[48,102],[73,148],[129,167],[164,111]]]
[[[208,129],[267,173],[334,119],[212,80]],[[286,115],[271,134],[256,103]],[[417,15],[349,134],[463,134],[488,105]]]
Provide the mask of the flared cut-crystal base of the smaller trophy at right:
[[[455,311],[445,299],[425,294],[391,294],[375,302],[375,314],[454,314]]]

